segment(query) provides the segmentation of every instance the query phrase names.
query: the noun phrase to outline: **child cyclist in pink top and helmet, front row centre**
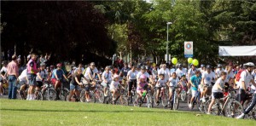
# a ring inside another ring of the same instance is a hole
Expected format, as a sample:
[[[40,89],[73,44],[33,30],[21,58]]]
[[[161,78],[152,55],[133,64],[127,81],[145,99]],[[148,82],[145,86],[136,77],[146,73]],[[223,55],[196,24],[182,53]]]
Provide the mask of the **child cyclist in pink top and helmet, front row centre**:
[[[144,97],[147,93],[147,87],[148,84],[146,82],[147,77],[145,75],[141,75],[138,85],[137,85],[137,100],[141,99]]]

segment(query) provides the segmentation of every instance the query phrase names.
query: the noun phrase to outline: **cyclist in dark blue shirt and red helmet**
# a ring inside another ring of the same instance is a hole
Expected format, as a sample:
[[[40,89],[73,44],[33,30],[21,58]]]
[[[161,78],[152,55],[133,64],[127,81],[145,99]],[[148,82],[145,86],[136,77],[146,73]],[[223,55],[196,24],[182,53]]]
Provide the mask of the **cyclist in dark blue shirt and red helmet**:
[[[63,83],[64,78],[68,81],[65,72],[61,69],[61,63],[57,64],[57,68],[53,70],[51,76],[51,83],[55,86],[55,90],[57,91],[56,100],[60,100],[59,94],[61,93],[57,89],[61,87],[61,83]]]

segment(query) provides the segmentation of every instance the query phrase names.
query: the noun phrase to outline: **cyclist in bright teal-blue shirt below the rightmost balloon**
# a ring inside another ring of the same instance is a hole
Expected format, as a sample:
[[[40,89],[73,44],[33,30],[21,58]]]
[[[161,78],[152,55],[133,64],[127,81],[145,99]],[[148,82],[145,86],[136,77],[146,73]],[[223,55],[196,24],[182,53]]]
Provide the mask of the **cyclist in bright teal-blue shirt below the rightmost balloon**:
[[[192,103],[195,99],[195,95],[198,94],[198,86],[201,83],[201,72],[196,70],[195,75],[190,78],[192,98],[190,100],[189,108],[192,108]]]

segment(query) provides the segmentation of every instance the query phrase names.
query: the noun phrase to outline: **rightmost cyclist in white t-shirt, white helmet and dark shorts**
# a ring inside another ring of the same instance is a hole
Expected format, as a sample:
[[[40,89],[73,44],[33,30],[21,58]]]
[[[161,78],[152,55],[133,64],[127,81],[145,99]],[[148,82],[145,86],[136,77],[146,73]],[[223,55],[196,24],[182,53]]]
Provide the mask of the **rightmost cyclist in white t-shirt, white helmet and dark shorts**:
[[[246,90],[249,86],[249,83],[252,83],[254,86],[256,86],[256,83],[253,80],[253,76],[251,72],[253,72],[254,64],[252,62],[248,62],[244,64],[243,66],[246,67],[246,70],[241,72],[241,78],[239,80],[239,94],[238,98],[240,101],[244,100],[246,97]],[[256,105],[256,91],[253,94],[253,99],[251,104],[245,109],[243,113],[241,113],[240,116],[236,117],[236,119],[241,119],[245,116],[245,114],[249,113],[253,107]]]

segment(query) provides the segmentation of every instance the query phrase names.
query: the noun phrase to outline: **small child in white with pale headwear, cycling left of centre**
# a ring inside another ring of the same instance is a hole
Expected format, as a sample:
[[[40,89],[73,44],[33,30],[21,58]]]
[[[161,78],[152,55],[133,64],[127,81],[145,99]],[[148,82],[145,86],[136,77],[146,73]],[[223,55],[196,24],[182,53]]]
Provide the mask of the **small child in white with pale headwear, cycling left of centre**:
[[[115,74],[113,76],[113,81],[111,82],[110,84],[110,91],[112,94],[112,97],[113,97],[113,101],[116,100],[115,99],[115,95],[116,95],[116,98],[119,97],[119,92],[118,92],[118,88],[119,88],[119,76],[117,74]]]

